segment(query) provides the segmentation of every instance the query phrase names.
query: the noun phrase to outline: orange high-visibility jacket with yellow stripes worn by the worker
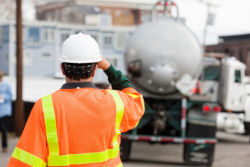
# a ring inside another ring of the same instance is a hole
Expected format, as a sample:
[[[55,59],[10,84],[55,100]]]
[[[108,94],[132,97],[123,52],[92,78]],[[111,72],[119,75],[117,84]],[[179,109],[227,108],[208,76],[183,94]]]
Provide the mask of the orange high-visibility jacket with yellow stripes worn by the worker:
[[[132,88],[58,90],[36,102],[8,167],[122,167],[120,134],[144,110]]]

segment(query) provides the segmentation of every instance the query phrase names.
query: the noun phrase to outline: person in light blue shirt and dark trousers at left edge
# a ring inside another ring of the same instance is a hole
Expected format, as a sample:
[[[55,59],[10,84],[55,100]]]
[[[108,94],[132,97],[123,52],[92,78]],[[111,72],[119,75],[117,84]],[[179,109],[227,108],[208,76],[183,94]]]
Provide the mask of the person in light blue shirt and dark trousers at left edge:
[[[9,117],[12,115],[12,92],[10,84],[3,80],[4,72],[0,70],[0,130],[2,132],[2,149],[8,152],[7,133]]]

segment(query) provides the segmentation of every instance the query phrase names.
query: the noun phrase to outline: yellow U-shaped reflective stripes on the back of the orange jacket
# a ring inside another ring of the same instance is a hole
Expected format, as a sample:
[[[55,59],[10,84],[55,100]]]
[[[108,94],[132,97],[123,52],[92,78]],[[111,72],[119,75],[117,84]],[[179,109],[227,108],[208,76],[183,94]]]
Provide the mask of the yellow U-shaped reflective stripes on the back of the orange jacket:
[[[59,145],[57,138],[57,128],[55,113],[53,107],[52,96],[48,95],[42,98],[43,111],[46,126],[46,135],[49,145],[49,156],[47,157],[48,166],[68,166],[68,165],[79,165],[79,164],[89,164],[89,163],[100,163],[105,162],[109,159],[116,158],[119,156],[119,144],[117,142],[118,135],[121,134],[119,127],[124,114],[124,105],[119,96],[119,94],[114,90],[108,90],[113,96],[116,103],[116,135],[113,138],[113,149],[108,149],[103,152],[95,153],[83,153],[83,154],[68,154],[59,155]],[[122,164],[117,167],[122,167]]]

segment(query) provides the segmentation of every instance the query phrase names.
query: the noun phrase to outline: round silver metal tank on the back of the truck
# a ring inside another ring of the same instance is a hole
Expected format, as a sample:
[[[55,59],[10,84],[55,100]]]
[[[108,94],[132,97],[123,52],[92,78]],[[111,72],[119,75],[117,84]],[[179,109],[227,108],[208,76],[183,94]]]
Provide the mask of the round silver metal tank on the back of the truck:
[[[135,84],[158,95],[176,92],[175,83],[185,73],[197,78],[202,57],[195,35],[172,17],[139,26],[125,49],[126,65]]]

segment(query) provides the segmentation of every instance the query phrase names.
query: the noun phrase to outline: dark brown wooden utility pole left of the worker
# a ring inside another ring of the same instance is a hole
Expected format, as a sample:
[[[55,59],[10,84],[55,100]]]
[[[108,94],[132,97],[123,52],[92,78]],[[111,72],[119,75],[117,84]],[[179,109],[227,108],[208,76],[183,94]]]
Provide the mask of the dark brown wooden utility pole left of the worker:
[[[23,39],[22,39],[22,0],[16,0],[16,103],[15,103],[15,132],[21,136],[24,128],[23,103]]]

